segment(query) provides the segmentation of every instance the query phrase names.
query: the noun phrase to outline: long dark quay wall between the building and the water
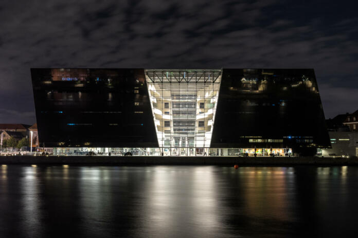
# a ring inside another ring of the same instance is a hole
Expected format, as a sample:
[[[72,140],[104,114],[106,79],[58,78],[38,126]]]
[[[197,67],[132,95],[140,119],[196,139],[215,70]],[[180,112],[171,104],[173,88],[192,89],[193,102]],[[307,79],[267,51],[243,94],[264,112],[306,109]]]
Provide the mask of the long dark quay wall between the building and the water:
[[[163,156],[0,156],[0,164],[24,165],[225,165],[292,166],[358,165],[358,158],[342,157],[163,157]]]

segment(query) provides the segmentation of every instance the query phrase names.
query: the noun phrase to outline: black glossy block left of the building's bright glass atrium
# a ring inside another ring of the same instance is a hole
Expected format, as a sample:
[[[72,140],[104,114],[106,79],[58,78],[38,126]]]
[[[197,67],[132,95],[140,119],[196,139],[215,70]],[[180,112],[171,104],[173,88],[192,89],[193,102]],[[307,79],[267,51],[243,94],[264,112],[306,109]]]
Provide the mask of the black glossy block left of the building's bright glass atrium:
[[[158,147],[144,70],[31,75],[40,147]]]

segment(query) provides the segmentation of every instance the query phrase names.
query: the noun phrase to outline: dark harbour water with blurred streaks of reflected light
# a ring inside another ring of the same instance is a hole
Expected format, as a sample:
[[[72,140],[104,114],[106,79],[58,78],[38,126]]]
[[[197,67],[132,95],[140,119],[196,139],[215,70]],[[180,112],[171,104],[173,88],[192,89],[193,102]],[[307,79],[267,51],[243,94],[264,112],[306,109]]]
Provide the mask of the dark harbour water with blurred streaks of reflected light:
[[[349,234],[356,167],[1,166],[0,237]]]

